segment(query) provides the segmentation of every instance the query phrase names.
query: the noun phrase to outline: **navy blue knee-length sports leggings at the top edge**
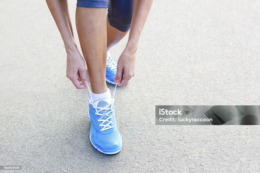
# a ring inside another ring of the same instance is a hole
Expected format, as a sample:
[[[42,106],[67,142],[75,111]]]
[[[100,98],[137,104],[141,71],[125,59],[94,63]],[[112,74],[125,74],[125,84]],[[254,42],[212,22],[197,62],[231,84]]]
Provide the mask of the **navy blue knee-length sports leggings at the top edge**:
[[[133,0],[77,0],[77,6],[108,8],[108,23],[118,29],[126,32],[130,29]]]

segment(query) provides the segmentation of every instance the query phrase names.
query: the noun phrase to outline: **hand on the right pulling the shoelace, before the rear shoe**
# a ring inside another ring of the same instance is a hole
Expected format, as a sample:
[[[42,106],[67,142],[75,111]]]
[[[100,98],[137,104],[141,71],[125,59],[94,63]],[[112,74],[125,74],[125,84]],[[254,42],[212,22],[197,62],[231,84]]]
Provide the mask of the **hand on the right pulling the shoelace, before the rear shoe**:
[[[134,76],[135,68],[135,51],[125,49],[120,55],[117,63],[116,76],[114,82],[118,86],[125,86],[126,83]]]

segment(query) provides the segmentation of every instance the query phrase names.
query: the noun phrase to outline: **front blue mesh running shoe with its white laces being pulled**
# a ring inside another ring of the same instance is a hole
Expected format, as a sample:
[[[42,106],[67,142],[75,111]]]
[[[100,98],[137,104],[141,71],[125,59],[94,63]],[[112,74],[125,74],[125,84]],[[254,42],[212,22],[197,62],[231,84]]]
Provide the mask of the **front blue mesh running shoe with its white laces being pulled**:
[[[93,103],[90,96],[89,100],[90,142],[104,154],[116,154],[122,148],[122,139],[115,120],[114,95],[115,90],[112,99]]]

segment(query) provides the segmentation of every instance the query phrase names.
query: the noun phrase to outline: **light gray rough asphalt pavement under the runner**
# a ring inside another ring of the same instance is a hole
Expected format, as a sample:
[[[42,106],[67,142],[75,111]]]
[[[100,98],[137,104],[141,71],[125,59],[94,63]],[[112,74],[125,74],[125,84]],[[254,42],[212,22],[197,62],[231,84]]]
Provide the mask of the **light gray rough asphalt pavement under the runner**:
[[[75,5],[69,1],[73,26]],[[0,1],[0,165],[22,165],[20,172],[260,172],[259,126],[155,126],[155,105],[259,105],[259,5],[155,0],[136,79],[116,91],[123,148],[104,155],[89,141],[89,94],[66,78],[66,52],[45,1]],[[110,50],[115,60],[126,41]]]

